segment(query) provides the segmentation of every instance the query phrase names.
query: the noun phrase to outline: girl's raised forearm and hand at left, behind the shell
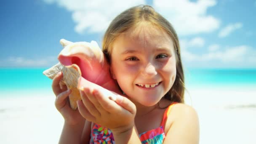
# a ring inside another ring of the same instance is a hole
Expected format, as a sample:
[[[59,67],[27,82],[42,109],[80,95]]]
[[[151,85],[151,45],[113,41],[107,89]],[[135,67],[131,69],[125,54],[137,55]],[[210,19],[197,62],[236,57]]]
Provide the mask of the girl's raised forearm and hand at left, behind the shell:
[[[53,92],[56,95],[55,107],[64,118],[64,126],[59,139],[59,144],[80,144],[83,128],[84,126],[87,126],[85,123],[86,120],[80,115],[78,109],[72,110],[69,107],[67,98],[71,91],[67,90],[65,85],[62,85],[63,88],[61,88],[61,77],[62,73],[59,73],[59,75],[56,75],[53,78],[52,83]],[[89,136],[90,135],[88,135],[88,137]]]

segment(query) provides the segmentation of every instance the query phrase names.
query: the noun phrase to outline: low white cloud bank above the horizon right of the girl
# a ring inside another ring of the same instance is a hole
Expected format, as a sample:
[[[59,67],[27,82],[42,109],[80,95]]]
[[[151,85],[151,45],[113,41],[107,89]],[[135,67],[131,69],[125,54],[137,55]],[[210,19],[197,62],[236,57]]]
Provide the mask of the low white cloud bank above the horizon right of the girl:
[[[256,67],[256,50],[248,45],[221,48],[213,44],[207,53],[192,53],[181,40],[181,57],[189,67]]]

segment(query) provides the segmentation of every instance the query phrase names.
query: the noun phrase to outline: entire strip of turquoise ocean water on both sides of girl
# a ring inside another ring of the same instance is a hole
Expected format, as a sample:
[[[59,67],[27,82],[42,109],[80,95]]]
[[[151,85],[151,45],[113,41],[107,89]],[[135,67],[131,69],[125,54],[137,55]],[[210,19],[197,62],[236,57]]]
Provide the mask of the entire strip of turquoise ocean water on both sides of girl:
[[[0,68],[0,91],[51,90],[52,80],[43,75],[47,68]],[[256,69],[185,69],[189,88],[256,88]]]

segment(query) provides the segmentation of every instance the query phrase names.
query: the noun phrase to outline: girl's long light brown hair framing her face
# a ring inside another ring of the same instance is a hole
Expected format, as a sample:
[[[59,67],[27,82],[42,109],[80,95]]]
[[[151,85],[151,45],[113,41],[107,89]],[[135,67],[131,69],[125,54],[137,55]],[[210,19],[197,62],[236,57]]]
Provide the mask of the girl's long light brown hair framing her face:
[[[102,42],[102,51],[105,53],[105,56],[110,64],[110,54],[114,40],[123,32],[141,23],[141,21],[150,23],[153,26],[162,29],[173,40],[176,56],[176,79],[172,88],[168,91],[168,93],[165,94],[164,98],[170,101],[184,103],[184,73],[181,64],[178,36],[172,25],[163,16],[157,13],[151,6],[135,6],[123,11],[117,17],[115,17],[105,32]]]

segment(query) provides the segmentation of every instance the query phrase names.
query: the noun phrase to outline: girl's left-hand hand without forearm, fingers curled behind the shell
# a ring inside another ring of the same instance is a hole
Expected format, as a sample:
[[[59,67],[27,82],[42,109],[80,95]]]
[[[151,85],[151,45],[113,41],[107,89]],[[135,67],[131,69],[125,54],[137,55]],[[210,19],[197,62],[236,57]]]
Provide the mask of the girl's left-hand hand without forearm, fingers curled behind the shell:
[[[67,86],[61,83],[62,77],[63,74],[60,72],[53,78],[52,89],[56,95],[55,107],[64,117],[66,124],[76,125],[78,123],[84,123],[85,119],[80,115],[78,109],[74,111],[69,106],[68,96],[71,90],[68,90]]]

